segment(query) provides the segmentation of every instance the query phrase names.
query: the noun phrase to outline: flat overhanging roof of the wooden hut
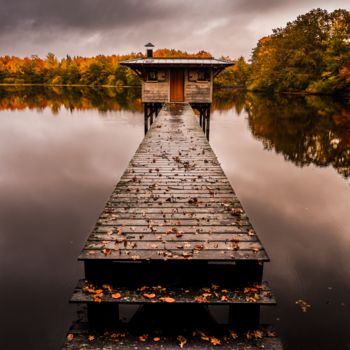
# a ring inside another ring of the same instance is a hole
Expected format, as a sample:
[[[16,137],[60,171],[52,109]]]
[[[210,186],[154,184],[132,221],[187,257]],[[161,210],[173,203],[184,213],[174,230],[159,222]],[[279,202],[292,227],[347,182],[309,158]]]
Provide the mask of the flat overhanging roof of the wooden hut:
[[[120,64],[140,69],[142,67],[211,67],[221,68],[233,66],[234,62],[216,58],[137,58],[122,61]]]

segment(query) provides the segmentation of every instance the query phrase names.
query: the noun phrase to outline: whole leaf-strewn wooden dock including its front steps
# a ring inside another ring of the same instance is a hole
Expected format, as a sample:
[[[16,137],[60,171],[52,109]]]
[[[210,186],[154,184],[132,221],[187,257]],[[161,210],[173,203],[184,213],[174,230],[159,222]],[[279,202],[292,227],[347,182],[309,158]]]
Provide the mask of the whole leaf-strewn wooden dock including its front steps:
[[[260,306],[276,303],[268,255],[189,104],[163,106],[79,260],[71,302],[87,312],[64,349],[282,349],[259,325]],[[142,306],[128,324],[126,304]],[[229,308],[226,325],[210,305]]]

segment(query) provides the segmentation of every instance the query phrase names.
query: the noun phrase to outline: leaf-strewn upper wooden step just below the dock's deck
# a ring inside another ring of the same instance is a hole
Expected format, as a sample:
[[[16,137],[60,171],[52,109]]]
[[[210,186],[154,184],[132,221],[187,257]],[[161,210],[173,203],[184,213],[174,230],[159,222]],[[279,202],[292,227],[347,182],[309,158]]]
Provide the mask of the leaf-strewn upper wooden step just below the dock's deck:
[[[86,280],[80,280],[70,301],[72,303],[119,304],[276,304],[267,282],[241,288],[218,285],[203,288],[164,287],[161,285],[126,288],[115,287],[108,283],[96,285]]]

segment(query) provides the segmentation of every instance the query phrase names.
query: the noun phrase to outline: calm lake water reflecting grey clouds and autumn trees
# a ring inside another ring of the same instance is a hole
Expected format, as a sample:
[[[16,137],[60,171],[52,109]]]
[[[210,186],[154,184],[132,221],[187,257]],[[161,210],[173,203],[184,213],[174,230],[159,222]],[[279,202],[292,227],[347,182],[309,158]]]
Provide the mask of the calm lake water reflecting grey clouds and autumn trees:
[[[144,136],[139,95],[0,87],[0,349],[62,345],[77,256]],[[350,349],[350,106],[218,91],[210,143],[271,258],[262,322],[287,350]]]

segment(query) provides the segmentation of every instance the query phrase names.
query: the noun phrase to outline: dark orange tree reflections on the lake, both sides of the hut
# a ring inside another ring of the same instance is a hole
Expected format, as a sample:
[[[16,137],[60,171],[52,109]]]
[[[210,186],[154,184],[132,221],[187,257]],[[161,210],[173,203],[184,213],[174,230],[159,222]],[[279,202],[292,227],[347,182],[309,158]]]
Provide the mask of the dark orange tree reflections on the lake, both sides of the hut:
[[[50,108],[142,112],[140,88],[0,87],[0,111]],[[350,177],[350,105],[326,96],[217,90],[212,110],[246,113],[252,135],[297,166],[333,166]]]

